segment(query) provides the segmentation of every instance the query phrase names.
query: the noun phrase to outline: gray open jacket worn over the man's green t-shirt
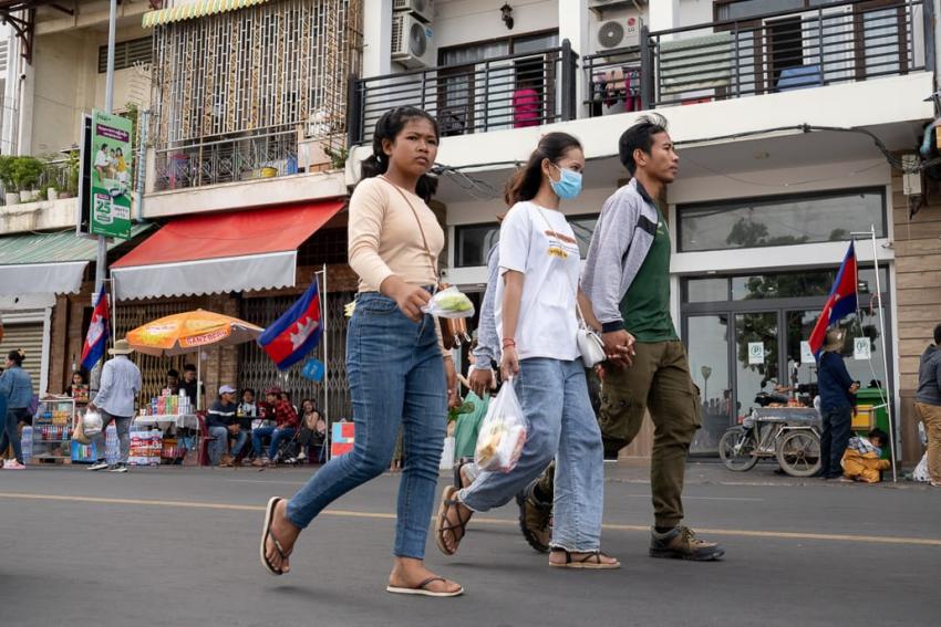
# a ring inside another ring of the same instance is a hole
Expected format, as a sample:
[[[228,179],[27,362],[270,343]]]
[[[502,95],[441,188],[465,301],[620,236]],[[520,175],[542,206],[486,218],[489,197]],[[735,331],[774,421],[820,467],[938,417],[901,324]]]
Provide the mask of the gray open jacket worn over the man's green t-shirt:
[[[601,207],[588,247],[581,290],[591,301],[604,333],[624,328],[621,301],[650,252],[659,221],[653,199],[635,178]]]

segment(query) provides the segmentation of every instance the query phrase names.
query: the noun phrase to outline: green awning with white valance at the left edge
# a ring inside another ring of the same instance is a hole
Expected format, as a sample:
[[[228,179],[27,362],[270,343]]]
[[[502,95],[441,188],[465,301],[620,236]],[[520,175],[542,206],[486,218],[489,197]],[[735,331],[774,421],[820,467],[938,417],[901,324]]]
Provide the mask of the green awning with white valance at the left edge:
[[[133,224],[134,238],[153,224]],[[108,242],[108,250],[124,243]],[[0,237],[0,295],[76,294],[85,267],[97,255],[97,241],[75,231]]]

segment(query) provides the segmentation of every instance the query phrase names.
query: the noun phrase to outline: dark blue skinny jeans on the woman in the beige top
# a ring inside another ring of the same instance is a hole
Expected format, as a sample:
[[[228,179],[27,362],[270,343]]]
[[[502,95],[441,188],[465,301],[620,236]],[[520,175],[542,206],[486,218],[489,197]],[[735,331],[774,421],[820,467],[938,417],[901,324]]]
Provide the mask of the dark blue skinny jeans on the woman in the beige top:
[[[376,292],[356,296],[347,334],[347,374],[353,399],[353,450],[330,460],[288,503],[303,529],[331,502],[382,474],[403,426],[405,468],[399,485],[397,557],[422,560],[437,487],[447,422],[444,363],[435,320],[410,321]]]

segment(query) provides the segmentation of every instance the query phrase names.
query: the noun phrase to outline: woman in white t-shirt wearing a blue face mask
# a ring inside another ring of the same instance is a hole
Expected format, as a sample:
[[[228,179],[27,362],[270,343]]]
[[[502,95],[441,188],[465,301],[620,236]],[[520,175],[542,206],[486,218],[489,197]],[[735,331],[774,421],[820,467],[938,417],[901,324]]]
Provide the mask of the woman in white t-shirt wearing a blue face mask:
[[[581,191],[585,155],[571,135],[549,133],[507,186],[496,292],[500,369],[529,420],[523,454],[509,473],[483,472],[469,488],[449,487],[436,526],[438,548],[457,552],[474,512],[507,503],[556,458],[549,565],[618,568],[601,553],[603,457],[585,366],[576,343],[579,248],[561,200]],[[579,299],[590,323],[588,300]]]

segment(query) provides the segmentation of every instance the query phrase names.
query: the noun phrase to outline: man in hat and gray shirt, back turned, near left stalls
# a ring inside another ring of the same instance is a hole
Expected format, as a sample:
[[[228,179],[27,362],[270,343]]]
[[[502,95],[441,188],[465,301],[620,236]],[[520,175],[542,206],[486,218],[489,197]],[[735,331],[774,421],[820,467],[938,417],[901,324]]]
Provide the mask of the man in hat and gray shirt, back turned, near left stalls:
[[[127,358],[134,349],[126,339],[118,339],[114,348],[108,351],[112,359],[105,362],[102,368],[101,386],[94,400],[89,403],[89,410],[97,409],[102,416],[102,429],[92,437],[95,445],[97,461],[89,470],[127,472],[127,456],[131,452],[131,420],[134,418],[134,401],[141,393],[143,382],[141,370]],[[117,439],[121,446],[121,459],[114,466],[105,461],[105,429],[114,420]]]

